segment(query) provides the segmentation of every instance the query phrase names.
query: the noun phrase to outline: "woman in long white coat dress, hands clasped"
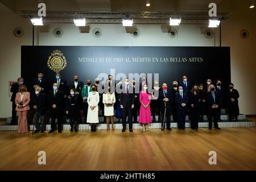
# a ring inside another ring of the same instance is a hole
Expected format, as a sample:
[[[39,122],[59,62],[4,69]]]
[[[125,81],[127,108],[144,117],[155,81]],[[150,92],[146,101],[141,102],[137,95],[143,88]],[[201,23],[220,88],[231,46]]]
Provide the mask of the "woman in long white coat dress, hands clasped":
[[[96,86],[92,85],[92,92],[89,92],[87,102],[88,102],[88,113],[87,122],[90,123],[90,131],[96,131],[96,124],[98,123],[98,102],[100,101],[100,96],[96,92]]]

